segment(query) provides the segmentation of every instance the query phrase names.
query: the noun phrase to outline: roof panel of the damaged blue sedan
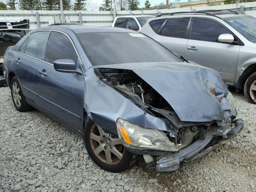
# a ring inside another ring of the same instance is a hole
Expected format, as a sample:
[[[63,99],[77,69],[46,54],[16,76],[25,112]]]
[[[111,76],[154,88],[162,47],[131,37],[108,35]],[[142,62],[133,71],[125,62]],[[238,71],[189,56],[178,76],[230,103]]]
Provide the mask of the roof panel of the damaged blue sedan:
[[[72,32],[79,33],[96,33],[96,32],[114,32],[114,33],[139,33],[134,30],[118,28],[118,27],[104,27],[104,26],[85,26],[85,25],[56,25],[56,26],[46,26],[37,28],[37,30],[64,30],[68,29]]]

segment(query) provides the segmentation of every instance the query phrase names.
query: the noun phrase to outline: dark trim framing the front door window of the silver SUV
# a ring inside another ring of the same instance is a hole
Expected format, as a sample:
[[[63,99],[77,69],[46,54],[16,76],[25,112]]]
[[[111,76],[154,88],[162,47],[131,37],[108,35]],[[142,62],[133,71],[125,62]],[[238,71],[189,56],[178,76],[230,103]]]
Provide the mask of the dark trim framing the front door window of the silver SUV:
[[[194,19],[208,19],[208,20],[212,20],[214,22],[217,22],[218,24],[220,24],[222,27],[224,27],[226,30],[228,30],[230,32],[230,34],[232,34],[234,36],[234,38],[238,39],[238,44],[236,43],[223,43],[223,42],[216,42],[216,41],[207,41],[207,40],[198,40],[198,39],[192,39],[192,27],[193,27],[193,22]],[[206,18],[206,17],[192,17],[191,18],[191,23],[190,23],[190,28],[189,28],[189,35],[188,35],[188,39],[189,40],[195,40],[195,41],[205,41],[205,42],[213,42],[213,43],[222,43],[222,44],[231,44],[231,45],[237,45],[237,46],[244,46],[244,43],[240,40],[240,38],[238,38],[238,36],[236,36],[228,27],[224,26],[221,22],[212,19],[212,18]]]

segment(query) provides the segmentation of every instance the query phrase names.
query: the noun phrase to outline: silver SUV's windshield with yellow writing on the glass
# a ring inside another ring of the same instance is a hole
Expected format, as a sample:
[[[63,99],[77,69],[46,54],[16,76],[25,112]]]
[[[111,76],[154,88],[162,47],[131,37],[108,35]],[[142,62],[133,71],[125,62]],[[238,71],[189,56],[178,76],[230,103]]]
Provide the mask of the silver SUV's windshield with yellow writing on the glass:
[[[247,15],[223,18],[223,20],[240,32],[246,39],[256,42],[256,18]]]

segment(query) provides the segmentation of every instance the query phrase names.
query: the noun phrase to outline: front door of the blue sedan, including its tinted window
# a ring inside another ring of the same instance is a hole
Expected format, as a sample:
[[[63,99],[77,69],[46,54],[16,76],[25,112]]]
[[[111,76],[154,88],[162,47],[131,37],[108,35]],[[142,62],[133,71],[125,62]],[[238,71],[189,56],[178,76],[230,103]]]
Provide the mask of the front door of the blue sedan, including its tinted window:
[[[38,86],[40,88],[41,106],[66,124],[83,130],[84,76],[58,72],[54,61],[71,59],[80,70],[80,59],[68,35],[62,32],[50,33],[44,54],[44,66],[40,68]]]

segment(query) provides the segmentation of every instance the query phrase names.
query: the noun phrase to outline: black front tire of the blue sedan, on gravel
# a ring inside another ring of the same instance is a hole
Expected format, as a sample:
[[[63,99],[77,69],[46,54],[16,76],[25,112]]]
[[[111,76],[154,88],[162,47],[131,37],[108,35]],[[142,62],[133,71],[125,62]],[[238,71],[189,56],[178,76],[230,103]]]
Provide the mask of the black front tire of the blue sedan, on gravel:
[[[91,129],[94,127],[94,125],[95,125],[95,123],[90,118],[87,117],[85,125],[84,125],[84,144],[85,144],[86,150],[87,150],[88,154],[90,155],[90,157],[92,158],[92,160],[98,166],[100,166],[102,169],[109,171],[109,172],[114,172],[114,173],[123,172],[123,171],[131,168],[134,164],[135,155],[126,149],[124,149],[125,152],[124,152],[122,160],[119,163],[113,164],[113,165],[106,164],[105,162],[100,160],[100,158],[98,158],[96,156],[96,154],[94,153],[94,151],[92,149],[92,145],[90,142],[90,132],[91,132]]]

